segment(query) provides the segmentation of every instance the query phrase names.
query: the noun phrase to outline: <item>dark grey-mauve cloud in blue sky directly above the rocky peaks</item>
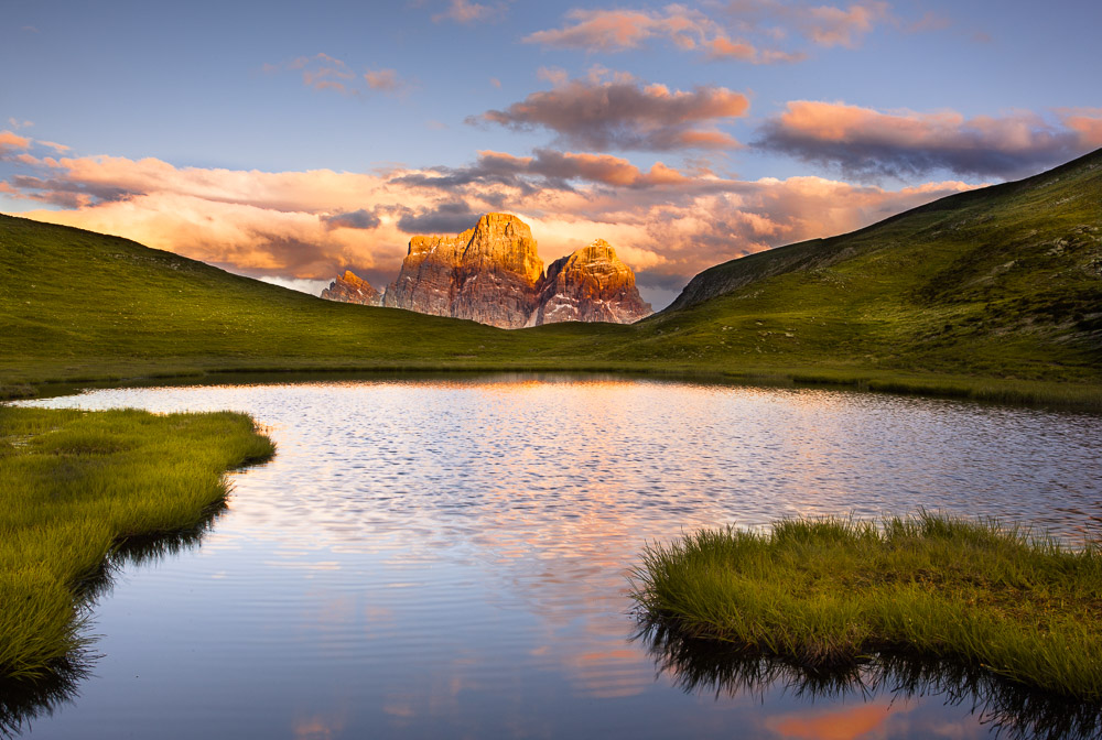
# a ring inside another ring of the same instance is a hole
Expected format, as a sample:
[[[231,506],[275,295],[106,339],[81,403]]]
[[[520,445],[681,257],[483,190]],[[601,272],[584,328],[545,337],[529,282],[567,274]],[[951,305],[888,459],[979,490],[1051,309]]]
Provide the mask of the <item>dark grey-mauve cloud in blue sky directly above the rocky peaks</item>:
[[[725,87],[670,90],[642,85],[626,75],[565,80],[554,72],[554,87],[532,92],[505,110],[488,110],[467,123],[495,123],[514,131],[548,129],[557,142],[582,149],[671,151],[735,149],[739,144],[715,124],[749,109],[745,95]]]

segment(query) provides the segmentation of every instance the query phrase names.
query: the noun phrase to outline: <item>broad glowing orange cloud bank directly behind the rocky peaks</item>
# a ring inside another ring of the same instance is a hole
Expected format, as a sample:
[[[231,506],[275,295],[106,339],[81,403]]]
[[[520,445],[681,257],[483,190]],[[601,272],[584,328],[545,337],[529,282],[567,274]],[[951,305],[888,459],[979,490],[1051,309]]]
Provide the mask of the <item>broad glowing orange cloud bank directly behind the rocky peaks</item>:
[[[961,182],[887,191],[820,177],[739,181],[706,167],[639,167],[596,152],[480,152],[463,167],[371,174],[176,167],[117,156],[6,159],[23,215],[136,239],[253,276],[392,280],[410,233],[455,233],[491,210],[532,226],[545,263],[607,239],[641,285],[667,291],[770,247],[849,231]]]

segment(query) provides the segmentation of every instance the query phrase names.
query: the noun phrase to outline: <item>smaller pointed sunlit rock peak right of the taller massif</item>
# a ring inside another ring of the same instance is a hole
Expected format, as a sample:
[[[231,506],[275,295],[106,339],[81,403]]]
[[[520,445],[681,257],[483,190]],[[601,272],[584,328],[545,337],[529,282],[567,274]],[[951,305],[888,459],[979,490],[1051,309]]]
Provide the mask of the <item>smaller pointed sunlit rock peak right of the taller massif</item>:
[[[551,263],[531,324],[630,324],[651,313],[650,304],[642,301],[635,286],[635,273],[607,241],[597,239]]]

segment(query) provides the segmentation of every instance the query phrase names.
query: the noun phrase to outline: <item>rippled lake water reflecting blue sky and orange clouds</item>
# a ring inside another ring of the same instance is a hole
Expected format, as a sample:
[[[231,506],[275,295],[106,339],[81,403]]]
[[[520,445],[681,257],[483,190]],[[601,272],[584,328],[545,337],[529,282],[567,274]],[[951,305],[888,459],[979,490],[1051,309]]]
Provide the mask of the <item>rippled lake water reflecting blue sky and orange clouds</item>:
[[[279,453],[231,475],[198,544],[121,568],[93,675],[28,737],[1030,737],[1067,714],[906,667],[820,685],[693,663],[638,634],[627,578],[649,542],[791,515],[926,508],[1082,543],[1094,415],[553,377],[34,404],[238,410]]]

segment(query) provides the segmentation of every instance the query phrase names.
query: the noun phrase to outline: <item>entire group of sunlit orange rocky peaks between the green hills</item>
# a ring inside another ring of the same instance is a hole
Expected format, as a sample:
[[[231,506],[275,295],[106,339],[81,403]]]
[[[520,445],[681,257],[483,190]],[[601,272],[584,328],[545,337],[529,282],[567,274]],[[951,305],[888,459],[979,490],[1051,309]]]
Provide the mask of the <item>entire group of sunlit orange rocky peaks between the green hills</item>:
[[[506,329],[558,322],[629,324],[651,313],[635,273],[608,242],[598,239],[555,260],[544,274],[531,229],[511,214],[486,214],[454,237],[413,237],[398,279],[381,297],[352,272],[322,297]]]

